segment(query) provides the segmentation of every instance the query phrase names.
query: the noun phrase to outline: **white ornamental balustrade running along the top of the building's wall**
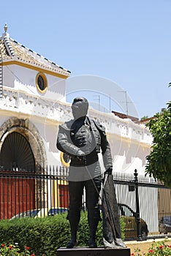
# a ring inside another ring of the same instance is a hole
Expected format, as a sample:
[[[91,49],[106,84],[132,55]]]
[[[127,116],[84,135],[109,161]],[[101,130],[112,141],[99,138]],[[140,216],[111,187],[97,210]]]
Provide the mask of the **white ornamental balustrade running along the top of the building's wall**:
[[[44,99],[26,92],[4,88],[4,97],[0,101],[0,109],[8,110],[23,115],[44,118],[46,123],[62,124],[72,118],[71,105],[52,99]],[[130,119],[122,119],[113,113],[101,113],[89,109],[88,116],[99,120],[111,138],[117,135],[126,140],[135,140],[137,143],[152,143],[152,135],[148,128],[141,124],[134,124]]]

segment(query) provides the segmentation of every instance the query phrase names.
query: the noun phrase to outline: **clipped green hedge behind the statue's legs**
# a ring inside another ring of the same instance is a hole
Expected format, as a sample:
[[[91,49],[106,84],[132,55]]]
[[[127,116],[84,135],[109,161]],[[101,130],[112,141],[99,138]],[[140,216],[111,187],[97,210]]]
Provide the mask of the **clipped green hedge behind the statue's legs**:
[[[121,222],[123,230],[124,223]],[[87,246],[88,242],[87,214],[81,214],[78,228],[78,246]],[[69,221],[66,214],[58,214],[45,218],[20,218],[0,222],[0,244],[18,244],[21,252],[29,246],[29,252],[35,255],[56,255],[61,246],[69,241]],[[103,246],[102,222],[99,222],[96,232],[98,246]]]

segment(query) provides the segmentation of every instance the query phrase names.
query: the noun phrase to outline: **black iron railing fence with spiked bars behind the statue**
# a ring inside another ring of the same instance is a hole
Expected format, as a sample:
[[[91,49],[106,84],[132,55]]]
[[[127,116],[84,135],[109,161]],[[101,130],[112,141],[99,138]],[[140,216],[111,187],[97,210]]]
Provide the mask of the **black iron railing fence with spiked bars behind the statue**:
[[[0,170],[0,219],[45,217],[69,207],[68,170]],[[114,173],[118,211],[125,222],[126,240],[171,237],[171,190],[153,178]],[[83,211],[86,211],[85,193]],[[99,206],[102,204],[102,193]]]

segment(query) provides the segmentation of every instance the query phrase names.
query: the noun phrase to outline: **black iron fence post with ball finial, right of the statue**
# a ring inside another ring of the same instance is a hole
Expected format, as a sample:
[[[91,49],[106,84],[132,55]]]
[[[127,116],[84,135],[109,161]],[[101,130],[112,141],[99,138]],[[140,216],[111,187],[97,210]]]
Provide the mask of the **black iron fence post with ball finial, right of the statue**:
[[[136,204],[136,221],[137,221],[137,241],[142,241],[141,236],[141,223],[140,223],[140,203],[138,193],[138,173],[137,169],[134,170],[134,183],[135,183],[135,204]]]

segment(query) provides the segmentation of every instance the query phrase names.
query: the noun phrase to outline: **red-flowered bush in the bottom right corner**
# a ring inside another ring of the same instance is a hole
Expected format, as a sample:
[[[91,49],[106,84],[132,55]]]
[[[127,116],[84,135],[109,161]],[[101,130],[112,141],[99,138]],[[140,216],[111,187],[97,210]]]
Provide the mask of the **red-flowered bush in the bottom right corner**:
[[[148,249],[148,253],[140,253],[140,249],[135,249],[131,256],[170,256],[171,255],[171,245],[167,244],[167,239],[160,242],[153,242],[151,247]]]

